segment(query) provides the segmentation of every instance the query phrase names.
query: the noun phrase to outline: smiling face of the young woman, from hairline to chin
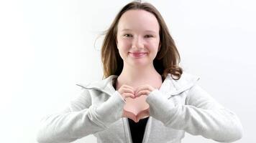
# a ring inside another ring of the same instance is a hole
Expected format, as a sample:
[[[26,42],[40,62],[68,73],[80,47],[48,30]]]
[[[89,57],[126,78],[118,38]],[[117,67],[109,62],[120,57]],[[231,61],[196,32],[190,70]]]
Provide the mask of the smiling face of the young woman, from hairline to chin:
[[[119,19],[116,45],[124,64],[152,65],[160,47],[159,24],[145,10],[126,11]]]

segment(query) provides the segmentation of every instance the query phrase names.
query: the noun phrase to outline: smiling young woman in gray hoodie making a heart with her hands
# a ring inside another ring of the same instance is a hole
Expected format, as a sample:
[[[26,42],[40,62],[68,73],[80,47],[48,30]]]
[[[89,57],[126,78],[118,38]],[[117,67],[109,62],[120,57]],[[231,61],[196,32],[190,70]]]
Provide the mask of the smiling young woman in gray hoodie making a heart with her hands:
[[[42,119],[38,142],[173,142],[184,133],[217,142],[242,137],[234,112],[216,102],[178,64],[168,27],[154,6],[131,2],[117,14],[101,49],[104,79],[82,87],[59,114]]]

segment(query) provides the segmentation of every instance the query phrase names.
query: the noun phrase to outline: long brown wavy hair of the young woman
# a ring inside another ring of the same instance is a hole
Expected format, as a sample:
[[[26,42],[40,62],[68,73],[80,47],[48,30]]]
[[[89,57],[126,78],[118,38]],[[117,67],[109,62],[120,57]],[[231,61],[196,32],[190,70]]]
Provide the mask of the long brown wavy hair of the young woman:
[[[180,54],[175,46],[173,38],[170,36],[168,27],[165,24],[160,12],[157,11],[155,6],[147,2],[132,1],[124,6],[121,11],[116,15],[109,29],[105,31],[104,41],[101,47],[101,61],[104,69],[104,78],[110,75],[119,76],[122,72],[124,61],[119,55],[119,51],[116,46],[116,33],[119,19],[124,12],[129,10],[145,10],[154,14],[160,25],[160,51],[157,52],[157,56],[153,60],[153,65],[157,72],[165,79],[167,74],[170,73],[171,77],[175,80],[180,79],[183,69],[178,66],[180,63]]]

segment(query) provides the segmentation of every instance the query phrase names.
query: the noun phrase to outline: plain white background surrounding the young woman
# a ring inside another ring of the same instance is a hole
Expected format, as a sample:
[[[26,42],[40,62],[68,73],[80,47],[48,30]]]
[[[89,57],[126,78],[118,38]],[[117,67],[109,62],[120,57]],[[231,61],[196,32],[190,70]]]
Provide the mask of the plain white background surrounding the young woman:
[[[99,35],[128,2],[0,1],[1,142],[36,142],[40,119],[64,109],[80,92],[75,84],[101,80]],[[168,24],[183,69],[241,120],[237,143],[255,142],[255,1],[149,2]],[[186,134],[188,142],[214,141]]]

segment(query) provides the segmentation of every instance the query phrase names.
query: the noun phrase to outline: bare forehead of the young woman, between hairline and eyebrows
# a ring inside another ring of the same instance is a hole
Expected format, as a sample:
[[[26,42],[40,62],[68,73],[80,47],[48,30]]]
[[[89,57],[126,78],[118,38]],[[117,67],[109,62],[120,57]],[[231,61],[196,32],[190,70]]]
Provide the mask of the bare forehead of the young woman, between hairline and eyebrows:
[[[124,29],[159,32],[159,24],[155,15],[148,11],[129,10],[124,12],[119,19],[118,31]]]

